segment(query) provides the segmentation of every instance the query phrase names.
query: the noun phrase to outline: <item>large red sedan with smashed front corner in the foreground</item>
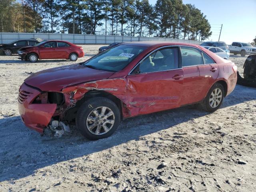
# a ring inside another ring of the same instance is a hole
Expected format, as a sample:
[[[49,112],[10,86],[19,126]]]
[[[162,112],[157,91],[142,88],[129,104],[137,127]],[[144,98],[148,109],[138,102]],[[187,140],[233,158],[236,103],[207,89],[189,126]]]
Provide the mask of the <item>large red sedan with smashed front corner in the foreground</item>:
[[[20,86],[18,108],[26,126],[40,133],[73,124],[97,140],[124,118],[196,103],[214,112],[234,90],[236,72],[233,62],[198,45],[130,42],[32,74]]]

